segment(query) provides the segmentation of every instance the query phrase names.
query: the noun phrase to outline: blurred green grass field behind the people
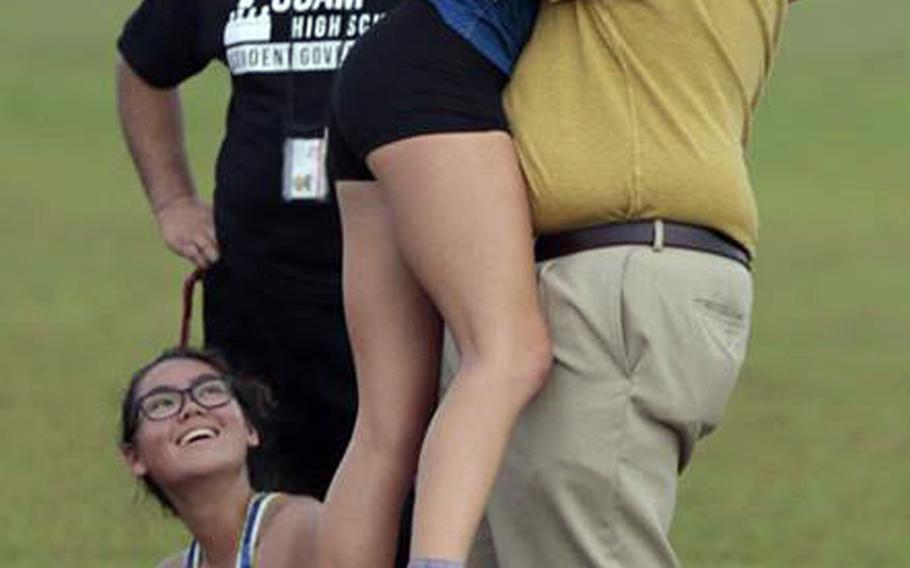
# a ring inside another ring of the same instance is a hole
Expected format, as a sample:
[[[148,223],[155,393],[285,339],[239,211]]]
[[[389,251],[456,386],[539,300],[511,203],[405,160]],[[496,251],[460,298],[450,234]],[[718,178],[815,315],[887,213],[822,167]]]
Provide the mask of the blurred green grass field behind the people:
[[[4,566],[152,566],[185,539],[115,451],[126,373],[175,340],[185,269],[114,117],[113,43],[132,7],[4,5]],[[902,0],[793,9],[750,152],[763,221],[750,356],[680,489],[688,566],[910,565],[908,21]],[[200,187],[225,81],[211,71],[185,92]]]

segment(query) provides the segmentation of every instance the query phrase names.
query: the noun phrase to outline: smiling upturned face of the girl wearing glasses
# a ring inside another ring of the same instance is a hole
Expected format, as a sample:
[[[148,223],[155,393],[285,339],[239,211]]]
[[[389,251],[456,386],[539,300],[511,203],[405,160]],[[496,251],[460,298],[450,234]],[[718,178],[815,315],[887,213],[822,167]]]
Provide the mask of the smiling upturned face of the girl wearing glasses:
[[[165,360],[148,371],[133,400],[145,400],[147,410],[160,411],[179,405],[179,396],[161,397],[163,391],[176,389],[184,391],[183,407],[161,420],[139,414],[132,443],[123,450],[134,475],[150,477],[165,491],[193,478],[231,471],[245,475],[247,451],[259,444],[259,437],[234,398],[226,403],[219,399],[213,375],[218,372],[206,363],[180,358]],[[194,395],[205,406],[185,391],[194,387]],[[212,401],[221,404],[212,405]]]

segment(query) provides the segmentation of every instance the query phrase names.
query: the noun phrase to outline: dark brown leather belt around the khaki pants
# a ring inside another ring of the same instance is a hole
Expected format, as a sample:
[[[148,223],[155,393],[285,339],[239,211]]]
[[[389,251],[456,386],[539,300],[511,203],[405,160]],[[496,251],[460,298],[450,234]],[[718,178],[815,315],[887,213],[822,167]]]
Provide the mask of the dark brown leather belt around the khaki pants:
[[[684,248],[716,254],[749,268],[752,256],[739,243],[714,229],[671,221],[606,223],[537,237],[534,256],[538,262],[595,248],[618,245],[648,245]]]

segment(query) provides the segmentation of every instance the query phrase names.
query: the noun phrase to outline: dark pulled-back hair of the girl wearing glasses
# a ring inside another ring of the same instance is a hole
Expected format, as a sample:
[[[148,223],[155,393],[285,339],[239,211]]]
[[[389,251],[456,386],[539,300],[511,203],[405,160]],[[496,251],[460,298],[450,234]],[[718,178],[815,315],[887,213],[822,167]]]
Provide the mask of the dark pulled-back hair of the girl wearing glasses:
[[[164,363],[179,359],[199,361],[228,379],[228,385],[240,406],[247,423],[258,432],[262,432],[263,425],[268,418],[268,413],[273,403],[268,388],[261,381],[248,376],[238,376],[231,369],[228,362],[217,351],[211,349],[197,349],[194,347],[171,347],[165,349],[160,355],[139,368],[130,378],[129,385],[120,404],[120,447],[133,445],[133,438],[139,427],[139,409],[136,406],[136,391],[142,380],[152,369]],[[142,483],[162,507],[176,514],[174,504],[165,494],[164,490],[150,476],[143,475]]]

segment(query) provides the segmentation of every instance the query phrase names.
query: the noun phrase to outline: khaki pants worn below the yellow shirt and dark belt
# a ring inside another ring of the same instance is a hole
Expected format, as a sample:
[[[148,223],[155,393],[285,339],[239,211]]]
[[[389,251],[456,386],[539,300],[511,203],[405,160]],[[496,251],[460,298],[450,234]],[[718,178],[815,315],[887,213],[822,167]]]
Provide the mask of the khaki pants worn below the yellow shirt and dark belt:
[[[677,566],[677,475],[736,383],[751,276],[647,246],[553,259],[538,274],[555,363],[515,427],[468,566]],[[451,341],[445,359],[443,384]]]

